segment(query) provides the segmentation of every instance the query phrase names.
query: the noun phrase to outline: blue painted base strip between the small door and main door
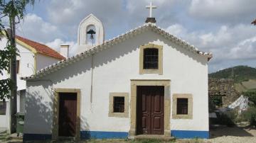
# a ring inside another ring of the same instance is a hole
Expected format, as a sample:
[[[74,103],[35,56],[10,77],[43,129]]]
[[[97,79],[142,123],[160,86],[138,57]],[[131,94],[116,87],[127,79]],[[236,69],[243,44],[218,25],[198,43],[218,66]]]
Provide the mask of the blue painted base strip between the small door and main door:
[[[128,132],[101,132],[101,131],[80,131],[81,139],[124,139]]]

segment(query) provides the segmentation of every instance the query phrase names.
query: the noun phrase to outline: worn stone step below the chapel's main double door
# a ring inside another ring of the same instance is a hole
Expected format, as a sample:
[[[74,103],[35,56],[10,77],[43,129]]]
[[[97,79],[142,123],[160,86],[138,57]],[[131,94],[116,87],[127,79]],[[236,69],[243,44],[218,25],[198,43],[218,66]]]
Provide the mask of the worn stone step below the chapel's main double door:
[[[171,140],[174,140],[174,137],[165,135],[135,135],[134,139],[159,139],[162,141],[169,142]]]

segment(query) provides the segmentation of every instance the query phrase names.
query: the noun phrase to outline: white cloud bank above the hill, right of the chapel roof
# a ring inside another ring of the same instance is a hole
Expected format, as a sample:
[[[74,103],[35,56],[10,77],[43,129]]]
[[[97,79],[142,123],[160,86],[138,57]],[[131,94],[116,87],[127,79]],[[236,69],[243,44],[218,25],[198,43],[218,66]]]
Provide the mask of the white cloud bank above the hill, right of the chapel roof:
[[[210,33],[201,30],[188,32],[179,24],[170,25],[166,30],[191,42],[200,50],[213,52],[213,62],[256,58],[256,28],[252,25],[223,25]]]

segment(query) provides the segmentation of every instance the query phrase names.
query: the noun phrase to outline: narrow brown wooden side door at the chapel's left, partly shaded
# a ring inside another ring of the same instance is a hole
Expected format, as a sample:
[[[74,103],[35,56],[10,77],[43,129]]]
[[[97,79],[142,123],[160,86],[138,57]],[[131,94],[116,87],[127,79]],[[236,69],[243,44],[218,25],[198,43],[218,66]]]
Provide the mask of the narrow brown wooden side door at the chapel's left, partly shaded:
[[[75,137],[77,93],[59,93],[58,135]]]

